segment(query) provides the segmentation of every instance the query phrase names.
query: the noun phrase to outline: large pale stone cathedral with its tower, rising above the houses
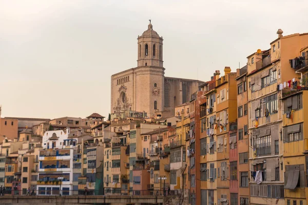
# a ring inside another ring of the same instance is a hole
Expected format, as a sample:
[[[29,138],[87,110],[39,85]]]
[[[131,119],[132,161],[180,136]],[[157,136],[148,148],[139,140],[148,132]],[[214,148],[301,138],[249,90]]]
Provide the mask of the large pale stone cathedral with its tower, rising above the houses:
[[[138,36],[137,67],[111,76],[111,113],[128,110],[175,113],[175,107],[190,100],[204,82],[193,79],[165,77],[163,37],[150,23]]]

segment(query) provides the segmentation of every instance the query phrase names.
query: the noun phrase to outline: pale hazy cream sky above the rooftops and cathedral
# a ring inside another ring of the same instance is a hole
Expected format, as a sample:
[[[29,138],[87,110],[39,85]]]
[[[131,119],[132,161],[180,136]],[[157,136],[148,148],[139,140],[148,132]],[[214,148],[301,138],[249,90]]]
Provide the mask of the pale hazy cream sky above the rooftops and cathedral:
[[[111,75],[137,66],[137,37],[164,38],[165,76],[207,81],[225,66],[308,32],[305,0],[0,0],[2,117],[110,112]]]

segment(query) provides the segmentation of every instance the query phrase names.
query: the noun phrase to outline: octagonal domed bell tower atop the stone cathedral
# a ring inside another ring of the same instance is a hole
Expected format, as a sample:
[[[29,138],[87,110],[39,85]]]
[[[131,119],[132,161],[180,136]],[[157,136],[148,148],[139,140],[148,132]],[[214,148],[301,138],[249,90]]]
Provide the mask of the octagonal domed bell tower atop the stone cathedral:
[[[153,30],[151,20],[148,29],[138,36],[138,67],[163,67],[163,37]]]

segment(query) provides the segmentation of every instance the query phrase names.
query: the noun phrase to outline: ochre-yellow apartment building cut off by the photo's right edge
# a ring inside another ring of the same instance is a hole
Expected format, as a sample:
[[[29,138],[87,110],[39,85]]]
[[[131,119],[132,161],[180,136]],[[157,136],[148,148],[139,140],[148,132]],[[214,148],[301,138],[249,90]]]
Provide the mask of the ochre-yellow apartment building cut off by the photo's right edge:
[[[297,82],[301,87],[293,85],[293,90],[286,90],[282,93],[281,98],[283,103],[283,165],[286,204],[307,204],[308,189],[305,178],[308,165],[308,137],[304,134],[308,129],[308,124],[305,122],[305,116],[308,115],[307,52],[307,47],[300,50],[298,58],[301,59],[301,64],[294,68],[296,73],[301,74],[300,80],[296,78],[294,83]]]

